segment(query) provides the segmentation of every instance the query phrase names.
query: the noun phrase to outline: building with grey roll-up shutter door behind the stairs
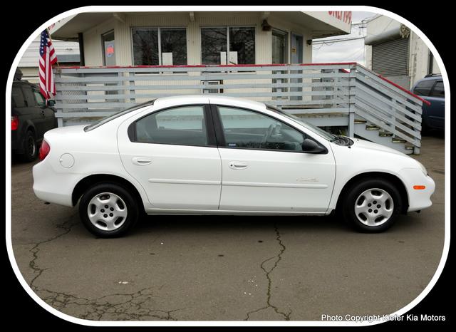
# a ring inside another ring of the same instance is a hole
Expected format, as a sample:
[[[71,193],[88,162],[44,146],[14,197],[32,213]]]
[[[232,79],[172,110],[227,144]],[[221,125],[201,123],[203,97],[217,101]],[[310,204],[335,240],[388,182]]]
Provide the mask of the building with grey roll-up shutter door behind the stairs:
[[[375,73],[406,89],[427,74],[440,73],[425,42],[407,26],[376,15],[366,27],[366,66]]]

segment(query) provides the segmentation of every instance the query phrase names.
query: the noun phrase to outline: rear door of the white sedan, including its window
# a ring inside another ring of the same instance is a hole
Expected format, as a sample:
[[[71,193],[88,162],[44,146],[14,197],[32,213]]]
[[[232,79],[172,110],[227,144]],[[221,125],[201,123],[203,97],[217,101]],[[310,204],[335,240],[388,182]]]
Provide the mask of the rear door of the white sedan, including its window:
[[[222,167],[210,117],[208,105],[185,105],[120,125],[125,170],[155,209],[218,209]]]

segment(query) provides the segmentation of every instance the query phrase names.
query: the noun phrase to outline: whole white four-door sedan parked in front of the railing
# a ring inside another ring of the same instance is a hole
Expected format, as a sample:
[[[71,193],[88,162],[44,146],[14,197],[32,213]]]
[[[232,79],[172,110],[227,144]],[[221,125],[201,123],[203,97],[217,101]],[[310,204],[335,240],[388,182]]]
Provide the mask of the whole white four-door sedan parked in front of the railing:
[[[44,135],[33,190],[76,206],[99,237],[147,214],[309,214],[337,210],[364,232],[432,203],[434,181],[401,152],[331,135],[264,103],[160,98]],[[336,171],[337,170],[337,171]]]

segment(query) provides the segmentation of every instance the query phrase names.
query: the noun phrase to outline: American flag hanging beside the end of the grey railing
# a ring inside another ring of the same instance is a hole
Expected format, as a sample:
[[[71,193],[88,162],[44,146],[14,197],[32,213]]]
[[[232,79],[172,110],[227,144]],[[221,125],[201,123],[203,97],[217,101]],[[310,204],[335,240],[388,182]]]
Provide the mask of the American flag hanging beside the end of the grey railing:
[[[57,62],[56,51],[51,42],[47,29],[41,32],[40,43],[40,92],[46,100],[56,95],[56,83],[54,83],[54,74],[52,65]]]

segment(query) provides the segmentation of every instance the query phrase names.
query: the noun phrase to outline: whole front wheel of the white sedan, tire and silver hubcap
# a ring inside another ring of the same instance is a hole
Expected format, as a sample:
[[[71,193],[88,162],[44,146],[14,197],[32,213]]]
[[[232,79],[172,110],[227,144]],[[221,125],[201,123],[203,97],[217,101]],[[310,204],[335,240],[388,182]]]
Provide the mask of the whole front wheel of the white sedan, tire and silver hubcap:
[[[362,232],[383,232],[393,225],[402,210],[398,188],[383,179],[352,185],[341,203],[343,219]]]

